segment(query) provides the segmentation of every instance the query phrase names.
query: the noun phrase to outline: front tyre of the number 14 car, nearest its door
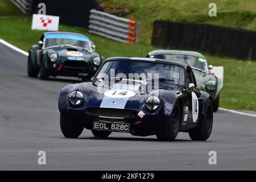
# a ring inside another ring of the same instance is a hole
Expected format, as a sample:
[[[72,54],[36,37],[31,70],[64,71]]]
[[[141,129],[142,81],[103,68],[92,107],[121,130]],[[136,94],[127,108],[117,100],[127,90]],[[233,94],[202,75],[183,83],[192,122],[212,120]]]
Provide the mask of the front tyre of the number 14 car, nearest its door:
[[[168,121],[164,122],[156,129],[156,137],[163,141],[172,141],[177,137],[180,128],[180,104],[176,102],[176,106]]]

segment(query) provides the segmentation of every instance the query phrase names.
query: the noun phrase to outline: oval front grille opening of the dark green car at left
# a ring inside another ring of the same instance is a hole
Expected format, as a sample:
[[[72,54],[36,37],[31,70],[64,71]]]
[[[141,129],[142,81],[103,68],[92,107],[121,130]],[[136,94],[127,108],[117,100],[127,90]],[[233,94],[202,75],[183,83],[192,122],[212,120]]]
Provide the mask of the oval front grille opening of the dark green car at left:
[[[63,67],[69,72],[85,72],[88,70],[88,64],[84,61],[71,61],[67,60],[64,62]]]

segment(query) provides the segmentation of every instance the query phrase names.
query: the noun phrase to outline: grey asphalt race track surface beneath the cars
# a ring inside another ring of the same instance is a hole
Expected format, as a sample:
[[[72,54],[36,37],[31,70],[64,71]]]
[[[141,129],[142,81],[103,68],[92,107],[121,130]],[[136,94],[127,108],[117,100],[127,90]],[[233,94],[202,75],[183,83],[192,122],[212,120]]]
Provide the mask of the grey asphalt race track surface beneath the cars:
[[[218,111],[206,142],[179,133],[174,142],[155,136],[112,133],[96,139],[84,130],[64,138],[57,99],[77,78],[42,81],[27,76],[27,57],[0,44],[0,170],[217,170],[256,169],[256,119]],[[46,151],[46,165],[38,151]],[[209,151],[217,165],[209,165]]]

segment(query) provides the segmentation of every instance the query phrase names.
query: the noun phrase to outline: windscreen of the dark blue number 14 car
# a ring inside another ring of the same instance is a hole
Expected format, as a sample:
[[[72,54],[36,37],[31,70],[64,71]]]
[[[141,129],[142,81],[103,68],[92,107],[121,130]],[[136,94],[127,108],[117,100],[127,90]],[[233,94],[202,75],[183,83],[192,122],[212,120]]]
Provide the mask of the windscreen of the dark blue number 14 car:
[[[161,64],[146,61],[108,61],[98,72],[96,78],[126,77],[130,80],[149,80],[158,78],[159,81],[184,86],[184,68],[172,64]]]

